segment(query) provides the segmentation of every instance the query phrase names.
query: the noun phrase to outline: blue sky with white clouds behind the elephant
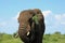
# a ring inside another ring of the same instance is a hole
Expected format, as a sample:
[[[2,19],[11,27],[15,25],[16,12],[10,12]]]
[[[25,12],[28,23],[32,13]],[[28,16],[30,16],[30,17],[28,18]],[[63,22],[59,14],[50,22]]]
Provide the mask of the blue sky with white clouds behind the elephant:
[[[17,31],[18,12],[28,9],[42,11],[46,19],[44,33],[65,33],[65,0],[0,0],[0,32]]]

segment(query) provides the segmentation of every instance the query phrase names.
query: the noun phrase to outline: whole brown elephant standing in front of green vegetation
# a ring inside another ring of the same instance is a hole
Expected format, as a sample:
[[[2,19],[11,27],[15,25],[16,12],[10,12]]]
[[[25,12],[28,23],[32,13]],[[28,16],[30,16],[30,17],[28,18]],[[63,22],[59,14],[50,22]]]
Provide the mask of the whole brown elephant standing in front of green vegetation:
[[[42,43],[46,25],[39,9],[22,11],[18,24],[18,37],[24,43]]]

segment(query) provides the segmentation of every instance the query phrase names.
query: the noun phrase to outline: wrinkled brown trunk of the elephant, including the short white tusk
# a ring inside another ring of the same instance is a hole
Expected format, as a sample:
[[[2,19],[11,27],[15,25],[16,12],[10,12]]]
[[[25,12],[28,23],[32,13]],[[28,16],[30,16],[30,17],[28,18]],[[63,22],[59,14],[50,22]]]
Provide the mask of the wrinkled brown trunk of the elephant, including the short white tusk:
[[[27,43],[30,43],[30,26],[29,24],[20,24],[20,29],[18,29],[18,35],[20,38]]]

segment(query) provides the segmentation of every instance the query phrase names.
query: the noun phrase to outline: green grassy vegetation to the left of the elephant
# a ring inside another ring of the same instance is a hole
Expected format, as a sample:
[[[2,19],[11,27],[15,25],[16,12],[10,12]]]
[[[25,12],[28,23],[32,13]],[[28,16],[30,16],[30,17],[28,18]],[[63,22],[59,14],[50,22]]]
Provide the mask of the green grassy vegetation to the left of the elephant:
[[[0,33],[0,43],[21,43],[21,40],[15,39],[13,34]]]

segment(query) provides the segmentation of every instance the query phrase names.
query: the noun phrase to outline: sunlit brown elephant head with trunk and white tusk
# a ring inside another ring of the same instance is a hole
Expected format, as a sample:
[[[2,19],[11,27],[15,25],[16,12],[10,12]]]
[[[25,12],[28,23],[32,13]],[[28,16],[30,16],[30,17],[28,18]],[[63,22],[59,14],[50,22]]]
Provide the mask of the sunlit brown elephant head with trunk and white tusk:
[[[30,31],[31,31],[31,25],[32,25],[32,16],[35,13],[32,10],[25,10],[21,12],[18,17],[18,35],[24,42],[30,42],[29,39],[31,38]]]

